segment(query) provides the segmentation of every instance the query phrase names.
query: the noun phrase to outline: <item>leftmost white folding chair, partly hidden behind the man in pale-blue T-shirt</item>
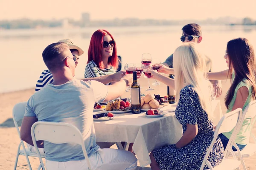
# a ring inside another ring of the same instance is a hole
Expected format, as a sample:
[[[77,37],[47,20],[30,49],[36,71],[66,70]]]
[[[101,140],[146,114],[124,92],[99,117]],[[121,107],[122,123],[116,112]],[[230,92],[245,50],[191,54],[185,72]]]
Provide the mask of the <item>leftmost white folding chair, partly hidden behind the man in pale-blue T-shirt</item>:
[[[17,122],[19,120],[23,119],[23,117],[24,117],[26,103],[27,102],[17,103],[13,107],[13,110],[12,110],[12,119],[13,119],[14,125],[17,129],[19,138],[20,138],[20,129],[19,129],[19,126],[18,126]],[[23,150],[20,149],[21,145],[23,147]],[[30,152],[30,150],[27,147],[25,147],[25,144],[24,144],[23,140],[21,140],[21,139],[20,139],[20,144],[18,146],[18,150],[17,150],[17,156],[16,156],[16,160],[15,160],[14,170],[16,170],[16,168],[17,168],[19,155],[26,156],[26,160],[27,160],[27,163],[28,163],[28,166],[29,166],[29,170],[32,170],[32,167],[31,167],[31,164],[29,162],[29,157],[28,156],[38,157],[38,155],[36,153]],[[42,157],[44,158],[44,155],[42,155]],[[41,169],[41,164],[38,167],[38,170],[40,170],[40,169]]]

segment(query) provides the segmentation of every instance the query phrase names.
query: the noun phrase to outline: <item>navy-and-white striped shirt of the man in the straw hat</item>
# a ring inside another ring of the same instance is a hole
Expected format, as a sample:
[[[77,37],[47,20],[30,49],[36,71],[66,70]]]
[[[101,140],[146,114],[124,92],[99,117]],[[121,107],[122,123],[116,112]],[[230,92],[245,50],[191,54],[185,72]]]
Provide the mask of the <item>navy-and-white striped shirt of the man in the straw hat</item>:
[[[53,77],[52,77],[52,73],[49,70],[44,70],[36,85],[35,85],[35,91],[39,91],[41,90],[45,85],[48,85],[49,83],[53,82]]]

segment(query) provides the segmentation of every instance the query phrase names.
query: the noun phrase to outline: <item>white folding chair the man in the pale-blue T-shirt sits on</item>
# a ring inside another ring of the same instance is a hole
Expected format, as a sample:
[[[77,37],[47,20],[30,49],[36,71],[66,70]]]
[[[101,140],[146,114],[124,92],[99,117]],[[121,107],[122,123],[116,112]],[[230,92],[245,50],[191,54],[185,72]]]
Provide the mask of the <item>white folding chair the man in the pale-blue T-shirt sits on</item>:
[[[63,143],[76,143],[80,144],[84,153],[84,158],[87,161],[89,170],[91,170],[90,160],[87,156],[87,152],[84,146],[84,140],[82,134],[78,128],[68,123],[56,123],[56,122],[35,122],[31,127],[31,136],[33,144],[38,153],[38,157],[41,161],[41,166],[43,170],[44,163],[42,161],[40,152],[36,141],[44,140],[55,144]]]

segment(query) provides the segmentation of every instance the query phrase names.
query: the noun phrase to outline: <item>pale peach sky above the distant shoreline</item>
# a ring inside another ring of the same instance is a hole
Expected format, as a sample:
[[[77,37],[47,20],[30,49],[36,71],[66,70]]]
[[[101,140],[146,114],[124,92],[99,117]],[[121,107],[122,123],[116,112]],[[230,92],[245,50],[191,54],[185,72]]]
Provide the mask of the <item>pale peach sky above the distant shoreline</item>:
[[[251,17],[256,20],[256,0],[0,0],[0,20],[140,18],[204,20],[218,17]]]

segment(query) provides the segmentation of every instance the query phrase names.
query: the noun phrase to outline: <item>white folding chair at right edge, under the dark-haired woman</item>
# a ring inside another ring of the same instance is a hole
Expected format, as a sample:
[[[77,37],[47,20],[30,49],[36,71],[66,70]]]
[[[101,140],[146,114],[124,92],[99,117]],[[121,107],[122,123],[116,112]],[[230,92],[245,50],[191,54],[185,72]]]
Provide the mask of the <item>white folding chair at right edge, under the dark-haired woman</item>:
[[[241,123],[239,125],[239,130],[244,122],[244,119],[248,119],[250,118],[251,119],[251,125],[250,125],[250,137],[253,139],[253,142],[254,143],[249,143],[247,144],[243,150],[239,150],[238,146],[236,143],[234,143],[234,147],[236,147],[236,150],[234,153],[236,154],[236,156],[238,157],[238,160],[241,160],[241,163],[243,165],[243,168],[244,170],[246,170],[246,166],[244,164],[244,160],[243,158],[247,158],[249,156],[252,156],[254,153],[256,153],[256,138],[255,136],[253,135],[253,133],[251,132],[252,131],[252,128],[253,128],[253,125],[256,121],[256,100],[255,101],[251,101],[247,106],[246,108],[244,109],[244,112],[243,112],[243,116],[242,116],[242,119],[241,119]]]

